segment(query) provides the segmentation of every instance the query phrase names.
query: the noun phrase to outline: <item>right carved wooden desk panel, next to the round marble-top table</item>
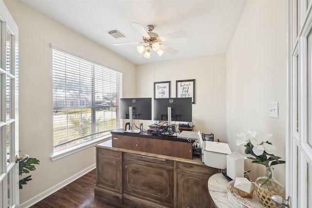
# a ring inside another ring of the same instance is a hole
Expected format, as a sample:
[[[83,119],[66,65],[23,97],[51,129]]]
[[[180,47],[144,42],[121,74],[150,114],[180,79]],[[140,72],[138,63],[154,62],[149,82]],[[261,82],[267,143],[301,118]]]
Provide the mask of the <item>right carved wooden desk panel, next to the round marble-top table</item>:
[[[208,179],[217,170],[177,163],[177,208],[208,208]]]

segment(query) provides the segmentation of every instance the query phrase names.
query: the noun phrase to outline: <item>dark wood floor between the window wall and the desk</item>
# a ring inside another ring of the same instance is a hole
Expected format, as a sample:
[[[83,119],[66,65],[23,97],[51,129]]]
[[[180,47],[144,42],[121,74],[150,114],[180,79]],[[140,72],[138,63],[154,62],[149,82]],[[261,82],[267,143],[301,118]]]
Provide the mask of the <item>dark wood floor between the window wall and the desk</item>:
[[[31,208],[133,208],[128,205],[112,205],[94,195],[96,170],[51,194]]]

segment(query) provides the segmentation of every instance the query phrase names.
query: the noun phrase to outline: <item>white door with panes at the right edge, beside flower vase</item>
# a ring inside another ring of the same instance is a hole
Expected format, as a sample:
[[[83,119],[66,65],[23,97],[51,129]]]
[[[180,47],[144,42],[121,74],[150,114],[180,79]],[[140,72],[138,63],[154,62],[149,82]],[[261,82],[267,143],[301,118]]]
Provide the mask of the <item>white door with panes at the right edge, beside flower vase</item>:
[[[286,194],[292,208],[312,208],[312,0],[287,6]]]

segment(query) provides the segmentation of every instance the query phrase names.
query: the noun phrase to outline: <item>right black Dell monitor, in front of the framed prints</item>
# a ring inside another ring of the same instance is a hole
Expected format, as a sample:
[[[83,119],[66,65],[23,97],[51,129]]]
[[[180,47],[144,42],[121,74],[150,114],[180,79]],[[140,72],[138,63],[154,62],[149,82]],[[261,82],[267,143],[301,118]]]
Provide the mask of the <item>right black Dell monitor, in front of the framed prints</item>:
[[[155,98],[154,120],[192,122],[192,97]]]

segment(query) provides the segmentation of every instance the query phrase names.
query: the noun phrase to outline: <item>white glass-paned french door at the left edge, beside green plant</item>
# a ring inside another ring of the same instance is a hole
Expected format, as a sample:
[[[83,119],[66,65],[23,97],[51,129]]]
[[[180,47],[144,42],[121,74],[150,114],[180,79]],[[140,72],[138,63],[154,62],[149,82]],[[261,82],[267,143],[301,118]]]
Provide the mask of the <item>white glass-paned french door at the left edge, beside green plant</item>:
[[[18,27],[0,0],[0,207],[19,207]]]

